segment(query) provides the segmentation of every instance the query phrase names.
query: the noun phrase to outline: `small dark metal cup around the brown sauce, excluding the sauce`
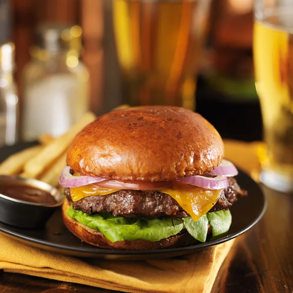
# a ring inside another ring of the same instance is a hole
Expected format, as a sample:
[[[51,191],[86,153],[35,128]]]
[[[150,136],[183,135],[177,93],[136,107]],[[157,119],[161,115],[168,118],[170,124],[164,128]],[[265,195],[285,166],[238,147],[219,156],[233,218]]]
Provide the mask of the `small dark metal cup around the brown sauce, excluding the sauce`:
[[[18,200],[0,193],[0,222],[21,228],[40,228],[49,219],[53,211],[63,203],[62,193],[55,187],[42,181],[19,176],[0,175],[1,184],[26,185],[50,193],[56,204],[45,205]]]

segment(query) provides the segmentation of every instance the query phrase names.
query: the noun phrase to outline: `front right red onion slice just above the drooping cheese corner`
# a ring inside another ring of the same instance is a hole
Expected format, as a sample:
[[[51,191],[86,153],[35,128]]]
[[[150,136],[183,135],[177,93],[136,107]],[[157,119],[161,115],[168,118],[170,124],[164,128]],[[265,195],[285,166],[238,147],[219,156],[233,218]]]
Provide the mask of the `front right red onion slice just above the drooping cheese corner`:
[[[206,189],[224,189],[229,186],[228,179],[227,177],[224,177],[224,176],[216,176],[212,178],[212,177],[196,175],[196,176],[179,178],[177,180],[190,184],[190,185],[206,188]]]

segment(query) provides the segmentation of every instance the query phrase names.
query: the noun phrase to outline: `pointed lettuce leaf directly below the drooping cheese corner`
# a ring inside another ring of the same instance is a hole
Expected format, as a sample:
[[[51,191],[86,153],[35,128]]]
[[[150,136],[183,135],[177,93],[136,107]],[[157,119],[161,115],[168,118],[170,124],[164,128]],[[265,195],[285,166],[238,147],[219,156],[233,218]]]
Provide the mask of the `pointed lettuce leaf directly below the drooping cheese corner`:
[[[182,218],[184,227],[188,233],[200,242],[206,242],[208,234],[208,217],[203,215],[197,222],[194,222],[191,217]]]

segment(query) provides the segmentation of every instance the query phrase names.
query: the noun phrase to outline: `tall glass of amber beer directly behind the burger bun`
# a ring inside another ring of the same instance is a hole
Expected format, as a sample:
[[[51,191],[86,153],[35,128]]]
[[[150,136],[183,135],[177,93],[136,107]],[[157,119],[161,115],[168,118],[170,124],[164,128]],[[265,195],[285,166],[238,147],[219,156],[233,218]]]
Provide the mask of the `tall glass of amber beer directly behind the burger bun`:
[[[195,107],[210,0],[112,0],[123,103]]]

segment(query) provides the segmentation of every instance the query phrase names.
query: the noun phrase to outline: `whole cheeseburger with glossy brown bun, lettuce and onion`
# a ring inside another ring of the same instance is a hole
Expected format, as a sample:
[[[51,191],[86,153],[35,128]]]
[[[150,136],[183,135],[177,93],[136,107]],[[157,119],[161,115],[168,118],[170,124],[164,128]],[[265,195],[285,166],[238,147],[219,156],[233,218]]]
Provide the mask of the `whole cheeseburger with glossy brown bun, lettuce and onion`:
[[[64,223],[106,249],[205,242],[229,230],[229,208],[246,195],[223,157],[219,133],[190,110],[141,106],[105,114],[68,149],[60,177]]]

